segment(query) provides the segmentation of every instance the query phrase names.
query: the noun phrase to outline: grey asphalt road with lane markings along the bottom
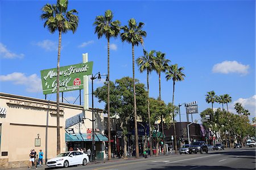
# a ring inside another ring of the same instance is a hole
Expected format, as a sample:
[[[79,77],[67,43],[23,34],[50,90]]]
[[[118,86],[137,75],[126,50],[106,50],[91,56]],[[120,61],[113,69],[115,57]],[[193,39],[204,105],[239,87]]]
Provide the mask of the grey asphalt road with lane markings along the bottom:
[[[58,168],[58,170],[64,168]],[[164,169],[255,169],[255,147],[222,151],[208,154],[183,154],[149,157],[147,159],[118,160],[108,163],[79,165],[65,170],[164,170]]]

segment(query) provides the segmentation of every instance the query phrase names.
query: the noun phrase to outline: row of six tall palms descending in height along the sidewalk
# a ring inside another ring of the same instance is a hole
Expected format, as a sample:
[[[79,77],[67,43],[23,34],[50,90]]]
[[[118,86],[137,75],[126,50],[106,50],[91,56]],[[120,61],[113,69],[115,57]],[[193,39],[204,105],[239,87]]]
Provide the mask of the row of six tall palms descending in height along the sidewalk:
[[[49,32],[52,34],[55,31],[59,31],[59,48],[57,54],[57,90],[56,90],[56,100],[57,100],[57,154],[60,153],[60,108],[59,108],[59,77],[60,77],[60,51],[61,51],[61,35],[67,33],[69,30],[73,33],[76,32],[79,17],[76,15],[78,12],[73,9],[68,11],[68,0],[57,0],[56,5],[49,5],[48,3],[43,6],[41,18],[46,20],[44,22],[44,27],[47,27]],[[97,16],[95,22],[93,23],[95,26],[95,34],[97,34],[98,39],[105,36],[108,41],[108,78],[110,80],[110,51],[109,51],[109,44],[110,38],[117,38],[120,36],[122,42],[127,42],[131,44],[132,49],[132,59],[133,59],[133,96],[134,96],[134,124],[135,124],[135,148],[136,148],[136,157],[139,157],[139,145],[138,145],[138,128],[137,128],[137,103],[136,103],[136,92],[135,92],[135,56],[134,56],[134,46],[138,46],[139,44],[143,45],[144,40],[147,36],[146,31],[143,31],[142,28],[144,23],[139,22],[137,23],[134,18],[128,21],[127,26],[121,26],[121,22],[119,20],[113,21],[113,13],[110,10],[105,11],[105,15]],[[122,32],[121,32],[122,30]],[[149,82],[148,82],[148,74],[151,71],[156,71],[159,75],[159,100],[161,99],[161,88],[160,88],[160,74],[162,72],[166,72],[166,80],[174,81],[181,81],[184,78],[184,74],[181,73],[183,68],[177,68],[176,65],[168,65],[170,60],[165,59],[165,54],[162,52],[156,52],[156,56],[153,56],[155,51],[151,51],[147,53],[145,50],[144,57],[142,61],[137,61],[138,65],[144,65],[140,68],[141,72],[147,70],[147,90],[148,90],[148,98],[149,98]],[[144,61],[148,61],[143,64]],[[176,70],[174,70],[176,69]],[[179,74],[177,74],[179,73]],[[110,81],[109,81],[110,82]],[[108,159],[111,159],[111,146],[110,146],[110,85],[108,82]],[[175,88],[174,88],[175,89]],[[174,90],[173,90],[173,97],[172,103],[174,104]],[[174,113],[172,113],[174,114]],[[163,131],[163,117],[161,118],[162,121],[162,131]],[[150,105],[148,100],[148,123],[150,124]],[[175,123],[175,122],[174,122]],[[151,127],[151,125],[149,125]],[[175,126],[174,126],[175,128]],[[151,132],[150,132],[151,138]],[[176,134],[175,134],[176,139]],[[152,153],[152,145],[150,139],[150,149]]]

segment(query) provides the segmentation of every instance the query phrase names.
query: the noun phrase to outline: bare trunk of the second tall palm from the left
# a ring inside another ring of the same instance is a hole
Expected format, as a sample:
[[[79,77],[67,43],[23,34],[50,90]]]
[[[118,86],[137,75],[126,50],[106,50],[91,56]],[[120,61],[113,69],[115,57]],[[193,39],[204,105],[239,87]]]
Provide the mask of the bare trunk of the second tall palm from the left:
[[[110,132],[110,77],[109,77],[109,38],[108,38],[108,160],[111,160],[111,132]]]

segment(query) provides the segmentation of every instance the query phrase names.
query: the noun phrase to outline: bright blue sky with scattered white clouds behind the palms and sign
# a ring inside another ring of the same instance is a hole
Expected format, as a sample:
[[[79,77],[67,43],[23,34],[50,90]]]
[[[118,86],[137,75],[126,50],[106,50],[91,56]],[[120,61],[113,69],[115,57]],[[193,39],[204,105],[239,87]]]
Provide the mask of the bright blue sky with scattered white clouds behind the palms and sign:
[[[50,34],[40,19],[46,3],[56,1],[0,1],[1,92],[44,98],[40,71],[56,67],[58,40],[57,32]],[[82,53],[88,52],[93,72],[107,73],[107,41],[97,38],[92,24],[110,9],[122,25],[130,18],[145,23],[146,50],[162,51],[171,64],[185,68],[185,80],[175,86],[175,105],[197,101],[201,112],[211,107],[205,94],[214,90],[217,95],[230,94],[230,111],[235,112],[234,102],[241,102],[254,117],[255,1],[69,1],[68,9],[79,11],[80,20],[75,34],[62,36],[61,66],[81,63]],[[131,45],[117,38],[110,39],[110,46],[110,79],[131,77]],[[135,58],[141,55],[142,47],[135,47]],[[146,73],[139,73],[137,66],[135,70],[135,77],[146,84]],[[96,82],[94,89],[102,85]],[[158,94],[158,76],[153,72],[150,96]],[[78,95],[64,93],[69,102]],[[171,98],[172,82],[162,74],[162,99],[168,103]],[[56,95],[48,99],[55,100]],[[94,101],[94,106],[104,107]],[[221,105],[214,103],[214,107]],[[199,117],[193,115],[194,120]],[[185,120],[181,106],[181,121]]]

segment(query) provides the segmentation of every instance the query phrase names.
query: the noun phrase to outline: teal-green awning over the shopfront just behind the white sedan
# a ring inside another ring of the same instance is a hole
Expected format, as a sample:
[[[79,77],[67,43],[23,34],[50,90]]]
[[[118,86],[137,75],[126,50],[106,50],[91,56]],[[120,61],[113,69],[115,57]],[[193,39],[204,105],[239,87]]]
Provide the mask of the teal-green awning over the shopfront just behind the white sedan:
[[[95,134],[94,139],[96,142],[108,141],[108,138],[102,134]],[[92,141],[92,136],[87,139],[87,134],[75,133],[75,134],[65,134],[65,142],[81,142],[81,141]]]

